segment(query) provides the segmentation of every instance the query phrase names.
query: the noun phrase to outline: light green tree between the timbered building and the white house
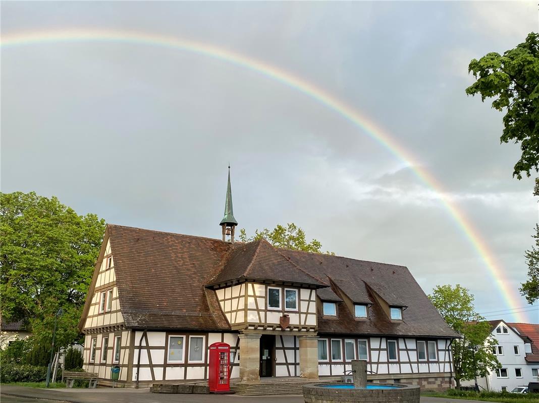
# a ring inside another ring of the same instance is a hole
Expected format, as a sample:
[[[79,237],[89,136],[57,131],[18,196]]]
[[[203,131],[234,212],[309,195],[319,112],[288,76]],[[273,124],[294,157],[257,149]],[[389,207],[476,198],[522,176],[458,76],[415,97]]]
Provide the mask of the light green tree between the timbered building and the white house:
[[[475,312],[474,296],[467,288],[459,284],[436,286],[429,298],[447,324],[461,335],[451,343],[457,388],[461,381],[474,379],[475,374],[486,377],[501,367],[493,354],[497,341],[490,337],[490,324]]]

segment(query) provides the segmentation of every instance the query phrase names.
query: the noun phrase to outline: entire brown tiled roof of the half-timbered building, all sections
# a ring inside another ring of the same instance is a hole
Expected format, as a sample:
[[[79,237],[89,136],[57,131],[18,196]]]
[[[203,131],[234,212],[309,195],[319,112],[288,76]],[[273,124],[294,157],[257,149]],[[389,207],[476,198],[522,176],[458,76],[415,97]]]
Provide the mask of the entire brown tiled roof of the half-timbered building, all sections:
[[[215,292],[205,286],[244,278],[305,284],[319,288],[321,298],[336,297],[338,320],[319,316],[322,334],[458,337],[404,266],[278,250],[266,241],[230,244],[120,225],[108,225],[105,236],[110,239],[120,306],[129,328],[230,329]],[[371,287],[391,304],[407,306],[404,320],[391,322],[377,303],[369,309],[368,321],[355,320],[337,289],[329,287],[330,278],[355,302],[375,302],[363,281],[375,284]]]

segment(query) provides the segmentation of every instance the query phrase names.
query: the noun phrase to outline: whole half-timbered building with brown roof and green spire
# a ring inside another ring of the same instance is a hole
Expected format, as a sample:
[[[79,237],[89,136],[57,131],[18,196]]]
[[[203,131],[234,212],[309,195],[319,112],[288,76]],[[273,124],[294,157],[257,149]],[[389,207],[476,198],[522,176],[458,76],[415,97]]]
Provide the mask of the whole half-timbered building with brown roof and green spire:
[[[372,380],[450,385],[458,335],[406,267],[234,243],[230,174],[220,225],[222,239],[108,225],[79,324],[101,385],[116,365],[123,386],[208,379],[215,342],[244,383],[364,359]]]

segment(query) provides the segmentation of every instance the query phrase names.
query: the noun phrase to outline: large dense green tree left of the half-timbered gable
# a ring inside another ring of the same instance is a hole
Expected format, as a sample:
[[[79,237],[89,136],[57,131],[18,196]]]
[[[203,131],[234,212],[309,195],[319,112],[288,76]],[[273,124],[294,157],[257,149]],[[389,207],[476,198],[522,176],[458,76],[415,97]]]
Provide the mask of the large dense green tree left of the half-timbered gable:
[[[105,232],[95,214],[80,216],[56,197],[0,193],[2,319],[27,319],[37,343],[78,337],[77,323]]]

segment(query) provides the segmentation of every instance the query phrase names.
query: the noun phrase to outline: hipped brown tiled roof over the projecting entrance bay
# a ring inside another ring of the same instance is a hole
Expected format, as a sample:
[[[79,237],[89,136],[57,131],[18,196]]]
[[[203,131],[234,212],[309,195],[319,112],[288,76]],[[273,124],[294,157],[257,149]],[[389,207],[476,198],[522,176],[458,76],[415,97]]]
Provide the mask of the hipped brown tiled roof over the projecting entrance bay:
[[[224,284],[232,280],[279,280],[317,287],[327,287],[291,263],[278,249],[265,239],[238,245],[226,259],[223,270],[211,284]]]

